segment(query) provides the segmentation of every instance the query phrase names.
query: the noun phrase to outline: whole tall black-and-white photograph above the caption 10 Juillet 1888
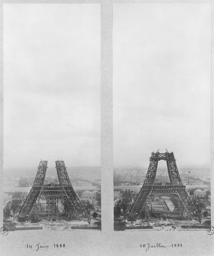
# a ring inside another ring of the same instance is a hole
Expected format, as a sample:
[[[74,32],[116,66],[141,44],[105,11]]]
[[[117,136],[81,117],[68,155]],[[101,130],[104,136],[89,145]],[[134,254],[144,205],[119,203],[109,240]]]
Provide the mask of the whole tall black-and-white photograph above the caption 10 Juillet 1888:
[[[114,230],[207,230],[209,5],[113,6]]]

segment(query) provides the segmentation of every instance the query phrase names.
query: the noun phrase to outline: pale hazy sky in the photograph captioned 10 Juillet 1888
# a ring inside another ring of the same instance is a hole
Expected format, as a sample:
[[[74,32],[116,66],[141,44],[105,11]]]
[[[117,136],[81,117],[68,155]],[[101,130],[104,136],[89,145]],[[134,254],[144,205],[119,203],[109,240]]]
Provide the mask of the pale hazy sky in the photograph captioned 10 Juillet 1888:
[[[114,5],[114,166],[210,163],[210,21],[210,4]]]

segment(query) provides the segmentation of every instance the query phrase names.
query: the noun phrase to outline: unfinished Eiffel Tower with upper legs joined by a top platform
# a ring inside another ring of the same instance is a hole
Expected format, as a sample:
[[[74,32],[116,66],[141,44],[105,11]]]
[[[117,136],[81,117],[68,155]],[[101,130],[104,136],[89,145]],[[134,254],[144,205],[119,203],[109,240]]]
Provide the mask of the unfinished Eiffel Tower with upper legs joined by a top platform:
[[[157,184],[155,182],[158,161],[160,160],[166,161],[170,178],[169,183],[162,182]],[[132,208],[128,212],[128,218],[132,220],[144,218],[149,221],[152,214],[151,200],[156,196],[173,198],[176,202],[174,214],[176,214],[178,218],[186,220],[197,218],[198,221],[201,222],[201,215],[189,198],[186,192],[186,186],[182,185],[174,153],[169,153],[167,150],[165,153],[160,153],[159,151],[151,153],[146,179],[144,180],[143,186],[141,187]]]

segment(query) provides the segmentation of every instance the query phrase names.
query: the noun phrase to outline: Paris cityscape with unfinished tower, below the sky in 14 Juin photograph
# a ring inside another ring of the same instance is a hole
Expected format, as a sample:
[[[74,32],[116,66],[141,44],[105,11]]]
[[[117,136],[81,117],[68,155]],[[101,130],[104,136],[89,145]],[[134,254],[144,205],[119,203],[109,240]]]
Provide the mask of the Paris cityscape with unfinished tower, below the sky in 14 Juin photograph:
[[[33,168],[5,171],[4,226],[10,231],[101,230],[100,167],[67,167],[67,172],[50,168],[45,175],[45,162],[40,162],[38,172]],[[64,165],[64,161],[57,163]]]

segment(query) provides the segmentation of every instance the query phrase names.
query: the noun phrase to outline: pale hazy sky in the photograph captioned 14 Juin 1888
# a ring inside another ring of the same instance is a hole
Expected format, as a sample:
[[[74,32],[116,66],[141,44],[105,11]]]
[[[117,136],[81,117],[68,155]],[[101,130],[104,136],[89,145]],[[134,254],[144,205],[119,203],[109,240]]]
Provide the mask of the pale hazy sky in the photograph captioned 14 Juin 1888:
[[[4,166],[100,165],[100,5],[4,4]]]

